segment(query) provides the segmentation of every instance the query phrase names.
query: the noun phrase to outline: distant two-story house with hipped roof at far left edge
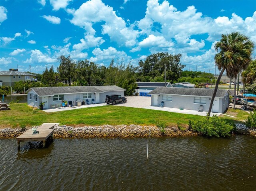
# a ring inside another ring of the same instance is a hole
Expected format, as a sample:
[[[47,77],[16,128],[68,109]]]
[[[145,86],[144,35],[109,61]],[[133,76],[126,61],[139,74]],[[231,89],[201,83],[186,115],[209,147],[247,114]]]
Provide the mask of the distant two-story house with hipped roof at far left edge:
[[[33,74],[29,74],[26,72],[19,72],[19,71],[0,71],[0,82],[2,82],[3,86],[10,86],[13,87],[15,82],[18,81],[37,81],[34,79]]]

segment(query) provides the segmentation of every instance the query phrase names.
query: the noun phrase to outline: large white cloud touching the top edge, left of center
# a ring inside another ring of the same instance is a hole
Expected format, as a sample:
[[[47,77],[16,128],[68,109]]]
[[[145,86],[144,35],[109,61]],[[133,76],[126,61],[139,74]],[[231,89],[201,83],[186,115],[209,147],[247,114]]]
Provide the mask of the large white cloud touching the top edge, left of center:
[[[87,34],[95,35],[93,24],[104,22],[102,34],[107,34],[111,41],[131,47],[136,44],[138,31],[133,26],[127,27],[126,22],[116,15],[112,7],[105,5],[101,0],[89,0],[83,3],[73,14],[70,22],[86,30]]]

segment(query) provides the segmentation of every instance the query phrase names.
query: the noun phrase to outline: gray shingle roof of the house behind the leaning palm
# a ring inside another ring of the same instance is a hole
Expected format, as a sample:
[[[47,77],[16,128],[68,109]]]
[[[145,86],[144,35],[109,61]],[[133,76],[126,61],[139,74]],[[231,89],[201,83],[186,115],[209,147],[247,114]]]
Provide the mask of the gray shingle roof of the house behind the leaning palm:
[[[170,94],[170,95],[189,95],[189,96],[205,96],[212,97],[214,89],[205,89],[205,88],[173,88],[173,87],[159,87],[152,90],[151,95],[158,94]],[[228,90],[218,89],[216,97],[224,98]]]

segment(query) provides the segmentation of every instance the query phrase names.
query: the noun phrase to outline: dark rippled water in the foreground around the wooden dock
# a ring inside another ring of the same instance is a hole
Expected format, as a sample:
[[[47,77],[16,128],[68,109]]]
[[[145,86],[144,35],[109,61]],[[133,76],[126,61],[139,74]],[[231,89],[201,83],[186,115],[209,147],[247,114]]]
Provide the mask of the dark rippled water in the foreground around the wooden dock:
[[[149,158],[146,159],[146,143]],[[239,190],[256,189],[256,139],[0,140],[0,189],[18,190]]]

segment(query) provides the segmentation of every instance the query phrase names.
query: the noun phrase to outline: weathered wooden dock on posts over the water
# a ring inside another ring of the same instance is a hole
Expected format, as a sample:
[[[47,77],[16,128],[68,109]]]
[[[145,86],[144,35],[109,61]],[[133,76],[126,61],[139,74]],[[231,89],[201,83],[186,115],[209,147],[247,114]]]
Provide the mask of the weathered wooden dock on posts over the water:
[[[45,147],[47,138],[53,139],[53,128],[54,125],[58,125],[59,123],[44,123],[37,128],[39,134],[33,135],[33,130],[29,129],[16,139],[18,141],[18,149],[20,149],[20,142],[21,141],[42,141]]]

